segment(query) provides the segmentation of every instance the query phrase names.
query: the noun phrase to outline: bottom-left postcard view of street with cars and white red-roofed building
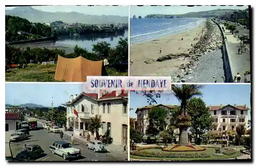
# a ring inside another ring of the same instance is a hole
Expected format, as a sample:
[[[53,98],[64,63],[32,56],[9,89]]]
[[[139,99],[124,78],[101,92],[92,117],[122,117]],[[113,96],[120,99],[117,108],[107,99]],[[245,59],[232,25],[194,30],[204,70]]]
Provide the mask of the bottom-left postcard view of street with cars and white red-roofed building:
[[[6,160],[127,161],[127,93],[83,91],[72,98],[71,90],[66,89],[69,87],[78,93],[82,84],[8,83],[6,86]],[[46,91],[48,93],[41,98]],[[66,97],[57,99],[57,96]],[[89,96],[95,98],[89,99]],[[75,101],[78,98],[82,103]],[[92,104],[99,100],[103,102],[100,106]],[[105,100],[108,100],[106,107]],[[62,104],[57,104],[59,102]]]

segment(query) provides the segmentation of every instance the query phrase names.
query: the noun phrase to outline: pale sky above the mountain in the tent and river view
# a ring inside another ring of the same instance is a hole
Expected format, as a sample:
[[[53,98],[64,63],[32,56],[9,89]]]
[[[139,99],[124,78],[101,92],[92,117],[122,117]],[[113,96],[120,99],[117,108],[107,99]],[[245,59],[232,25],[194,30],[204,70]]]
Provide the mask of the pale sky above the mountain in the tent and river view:
[[[6,7],[13,9],[15,7]],[[91,15],[118,15],[129,16],[129,6],[32,6],[46,12],[78,12]]]

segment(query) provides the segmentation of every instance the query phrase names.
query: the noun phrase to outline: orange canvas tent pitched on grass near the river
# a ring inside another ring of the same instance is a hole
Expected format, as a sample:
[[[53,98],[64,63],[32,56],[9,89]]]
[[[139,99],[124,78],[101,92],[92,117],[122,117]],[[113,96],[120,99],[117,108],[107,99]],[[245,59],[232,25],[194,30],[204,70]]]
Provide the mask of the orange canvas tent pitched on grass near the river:
[[[91,61],[83,58],[64,58],[58,56],[54,79],[66,82],[86,82],[87,76],[102,76],[103,60]]]

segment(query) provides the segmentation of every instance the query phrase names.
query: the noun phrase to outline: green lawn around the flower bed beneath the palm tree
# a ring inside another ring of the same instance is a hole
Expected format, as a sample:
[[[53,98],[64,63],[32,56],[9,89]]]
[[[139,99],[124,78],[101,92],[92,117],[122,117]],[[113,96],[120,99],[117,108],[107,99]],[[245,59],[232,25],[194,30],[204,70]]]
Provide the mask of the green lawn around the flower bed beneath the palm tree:
[[[227,159],[227,158],[235,158],[240,156],[240,151],[238,151],[237,153],[234,153],[232,155],[223,155],[223,156],[214,156],[213,154],[215,153],[215,148],[207,148],[206,151],[202,151],[202,152],[164,152],[161,151],[161,149],[145,149],[142,151],[146,151],[146,152],[155,152],[155,153],[173,153],[173,154],[177,154],[177,153],[182,153],[182,154],[202,154],[202,153],[206,153],[208,154],[210,157],[202,157],[202,158],[165,158],[165,157],[142,157],[142,156],[135,156],[135,155],[130,155],[130,158],[135,158],[135,159],[144,159],[144,160],[174,160],[174,161],[189,161],[189,160],[217,160],[217,159]]]

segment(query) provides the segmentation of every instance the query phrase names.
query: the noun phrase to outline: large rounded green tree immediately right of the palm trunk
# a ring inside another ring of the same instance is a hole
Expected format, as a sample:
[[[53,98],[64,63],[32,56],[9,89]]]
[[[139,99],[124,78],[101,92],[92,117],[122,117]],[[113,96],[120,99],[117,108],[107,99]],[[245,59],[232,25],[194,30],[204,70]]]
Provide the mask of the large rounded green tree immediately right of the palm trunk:
[[[195,131],[195,140],[197,136],[202,135],[211,129],[213,118],[209,109],[201,98],[192,98],[187,102],[187,111],[191,116],[191,128]]]

